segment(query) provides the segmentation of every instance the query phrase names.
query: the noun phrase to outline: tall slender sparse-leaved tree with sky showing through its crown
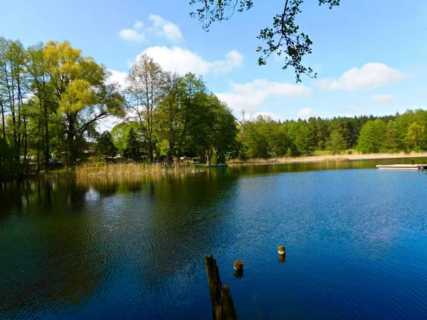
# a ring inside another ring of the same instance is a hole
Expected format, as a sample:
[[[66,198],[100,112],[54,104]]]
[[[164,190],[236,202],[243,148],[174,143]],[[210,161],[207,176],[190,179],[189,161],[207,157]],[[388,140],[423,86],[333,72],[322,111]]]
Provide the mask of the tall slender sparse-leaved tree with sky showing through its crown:
[[[162,95],[163,71],[147,54],[140,56],[130,68],[126,88],[130,119],[139,125],[148,142],[149,161],[154,155],[154,110]]]

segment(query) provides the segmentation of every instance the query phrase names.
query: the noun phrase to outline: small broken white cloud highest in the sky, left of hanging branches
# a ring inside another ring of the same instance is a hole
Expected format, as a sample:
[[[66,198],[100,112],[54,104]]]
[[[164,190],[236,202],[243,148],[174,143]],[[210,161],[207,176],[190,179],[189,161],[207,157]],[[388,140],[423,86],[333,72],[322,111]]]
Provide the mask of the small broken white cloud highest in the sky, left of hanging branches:
[[[181,31],[176,24],[157,16],[157,14],[150,14],[148,19],[152,22],[152,27],[144,28],[143,21],[135,21],[132,29],[122,29],[120,31],[120,38],[126,41],[143,42],[146,36],[155,35],[167,38],[170,41],[182,40]]]

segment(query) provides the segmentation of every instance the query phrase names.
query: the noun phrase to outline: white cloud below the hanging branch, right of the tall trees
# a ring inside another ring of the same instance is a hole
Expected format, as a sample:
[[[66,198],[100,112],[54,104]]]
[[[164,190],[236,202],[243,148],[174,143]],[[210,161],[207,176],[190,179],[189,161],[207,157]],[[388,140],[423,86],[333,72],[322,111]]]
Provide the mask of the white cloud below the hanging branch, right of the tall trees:
[[[266,79],[253,80],[244,84],[230,82],[229,92],[216,93],[220,100],[227,102],[235,112],[248,110],[255,112],[268,97],[303,97],[311,94],[305,85],[294,85],[288,82],[269,82]]]

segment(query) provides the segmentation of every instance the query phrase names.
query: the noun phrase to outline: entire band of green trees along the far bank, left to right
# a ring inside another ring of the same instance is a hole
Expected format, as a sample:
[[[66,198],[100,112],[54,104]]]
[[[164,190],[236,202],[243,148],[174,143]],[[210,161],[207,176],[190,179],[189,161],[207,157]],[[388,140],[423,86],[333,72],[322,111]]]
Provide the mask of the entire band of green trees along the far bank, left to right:
[[[100,160],[210,165],[316,151],[427,151],[426,110],[285,122],[236,116],[201,76],[167,72],[141,55],[125,83],[113,82],[67,41],[25,48],[0,38],[0,107],[0,176]],[[98,132],[107,117],[117,124]]]

